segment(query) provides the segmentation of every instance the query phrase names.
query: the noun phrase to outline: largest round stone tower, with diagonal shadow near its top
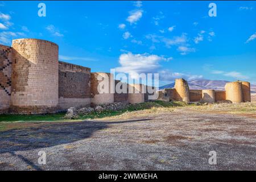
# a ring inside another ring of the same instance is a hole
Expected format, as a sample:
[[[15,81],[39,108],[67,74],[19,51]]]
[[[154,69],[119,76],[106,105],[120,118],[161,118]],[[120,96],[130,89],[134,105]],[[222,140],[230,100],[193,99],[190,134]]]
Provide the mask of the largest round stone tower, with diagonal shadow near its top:
[[[58,104],[59,47],[39,39],[13,40],[11,113],[53,113]]]

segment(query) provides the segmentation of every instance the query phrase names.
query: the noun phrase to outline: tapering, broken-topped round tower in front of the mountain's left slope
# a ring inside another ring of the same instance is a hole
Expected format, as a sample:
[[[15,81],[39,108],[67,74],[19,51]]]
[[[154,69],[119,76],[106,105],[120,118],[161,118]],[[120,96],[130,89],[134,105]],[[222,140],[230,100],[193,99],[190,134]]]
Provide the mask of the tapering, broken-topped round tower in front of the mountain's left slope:
[[[189,102],[189,87],[187,81],[183,78],[176,79],[174,88],[174,100]]]

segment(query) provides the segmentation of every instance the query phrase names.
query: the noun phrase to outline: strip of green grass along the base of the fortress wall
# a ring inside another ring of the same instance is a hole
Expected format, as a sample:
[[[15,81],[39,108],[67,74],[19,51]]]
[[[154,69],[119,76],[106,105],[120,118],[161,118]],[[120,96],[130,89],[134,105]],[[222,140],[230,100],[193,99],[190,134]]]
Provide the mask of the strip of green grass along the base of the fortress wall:
[[[90,113],[87,115],[80,115],[77,119],[64,119],[65,113],[57,114],[34,114],[34,115],[17,115],[17,114],[0,114],[1,122],[35,122],[35,121],[81,121],[83,119],[95,119],[111,117],[115,115],[123,114],[127,111],[144,110],[151,109],[152,107],[177,107],[177,106],[189,106],[185,102],[164,102],[164,101],[154,101],[154,102],[144,102],[141,104],[129,105],[127,109],[122,109],[119,111],[107,110],[102,113]]]

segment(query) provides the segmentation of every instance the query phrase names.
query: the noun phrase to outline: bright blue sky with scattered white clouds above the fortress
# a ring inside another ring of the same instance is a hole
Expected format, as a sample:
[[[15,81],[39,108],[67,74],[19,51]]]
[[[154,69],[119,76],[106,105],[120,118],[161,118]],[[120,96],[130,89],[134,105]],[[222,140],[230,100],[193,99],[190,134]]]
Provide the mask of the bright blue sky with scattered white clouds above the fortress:
[[[254,1],[40,2],[46,17],[39,1],[0,1],[0,44],[49,40],[60,60],[92,72],[160,73],[159,85],[179,77],[256,84]]]

